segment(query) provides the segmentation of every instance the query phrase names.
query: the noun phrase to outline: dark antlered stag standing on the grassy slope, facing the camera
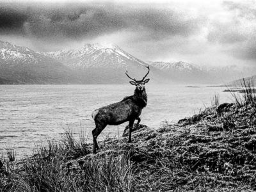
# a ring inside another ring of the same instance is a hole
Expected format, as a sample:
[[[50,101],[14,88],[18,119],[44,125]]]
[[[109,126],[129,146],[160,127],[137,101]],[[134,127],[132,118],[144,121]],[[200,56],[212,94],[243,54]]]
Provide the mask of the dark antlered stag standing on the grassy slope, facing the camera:
[[[116,102],[93,111],[92,118],[96,125],[95,129],[92,131],[94,154],[96,153],[96,150],[99,150],[97,137],[107,125],[120,125],[129,121],[128,142],[131,143],[131,132],[134,121],[138,120],[136,124],[138,127],[140,124],[139,116],[141,115],[141,111],[145,106],[147,106],[145,83],[148,83],[149,79],[145,79],[145,77],[147,77],[150,71],[149,67],[147,68],[147,74],[140,81],[137,81],[135,78],[131,78],[128,75],[128,72],[125,72],[126,76],[129,77],[129,79],[132,79],[129,83],[136,86],[133,95],[125,97],[120,102]]]

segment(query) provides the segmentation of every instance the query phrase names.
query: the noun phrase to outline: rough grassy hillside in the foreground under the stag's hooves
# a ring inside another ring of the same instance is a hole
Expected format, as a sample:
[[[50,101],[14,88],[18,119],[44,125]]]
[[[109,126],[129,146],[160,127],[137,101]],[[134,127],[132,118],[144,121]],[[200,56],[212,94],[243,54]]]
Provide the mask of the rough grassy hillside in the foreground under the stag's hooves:
[[[0,191],[255,191],[256,95],[248,94],[177,124],[140,125],[132,143],[125,132],[99,142],[97,154],[67,132],[22,161],[2,159]]]

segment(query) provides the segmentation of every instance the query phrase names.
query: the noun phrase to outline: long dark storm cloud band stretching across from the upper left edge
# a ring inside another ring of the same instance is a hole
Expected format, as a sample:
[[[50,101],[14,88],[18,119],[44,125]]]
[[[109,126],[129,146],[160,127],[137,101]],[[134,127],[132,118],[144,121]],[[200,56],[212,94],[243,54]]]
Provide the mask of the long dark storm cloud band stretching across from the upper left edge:
[[[1,4],[0,35],[20,35],[50,40],[91,38],[116,31],[144,33],[148,38],[189,36],[202,20],[170,8],[130,4]]]

